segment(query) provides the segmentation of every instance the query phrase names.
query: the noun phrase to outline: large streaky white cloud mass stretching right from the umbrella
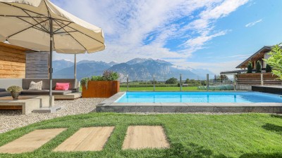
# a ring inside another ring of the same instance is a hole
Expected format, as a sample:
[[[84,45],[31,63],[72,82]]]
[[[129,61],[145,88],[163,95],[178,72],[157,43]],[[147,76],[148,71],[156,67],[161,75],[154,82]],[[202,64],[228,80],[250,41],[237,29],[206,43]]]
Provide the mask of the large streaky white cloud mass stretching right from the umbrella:
[[[106,50],[78,55],[78,60],[125,62],[132,58],[174,58],[176,60],[171,62],[176,65],[187,65],[192,53],[204,48],[208,41],[228,33],[229,30],[214,29],[216,20],[247,1],[53,0],[66,11],[104,29]],[[177,51],[165,47],[174,39]],[[73,60],[73,55],[55,54],[54,57]]]

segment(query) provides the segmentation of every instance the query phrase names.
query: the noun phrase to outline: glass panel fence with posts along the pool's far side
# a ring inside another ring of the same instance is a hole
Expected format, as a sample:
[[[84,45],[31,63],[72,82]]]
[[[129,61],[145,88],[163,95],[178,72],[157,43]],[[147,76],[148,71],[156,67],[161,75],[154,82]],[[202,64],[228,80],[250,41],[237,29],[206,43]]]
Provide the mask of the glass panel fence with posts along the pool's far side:
[[[233,91],[233,76],[216,74],[179,74],[120,77],[121,91]]]

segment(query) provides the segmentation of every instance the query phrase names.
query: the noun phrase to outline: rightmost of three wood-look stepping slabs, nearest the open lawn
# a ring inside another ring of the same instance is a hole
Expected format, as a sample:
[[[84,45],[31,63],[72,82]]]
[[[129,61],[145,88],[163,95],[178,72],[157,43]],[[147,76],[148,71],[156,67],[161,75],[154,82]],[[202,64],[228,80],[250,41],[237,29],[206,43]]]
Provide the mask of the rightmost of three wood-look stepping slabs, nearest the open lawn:
[[[161,126],[129,126],[123,149],[166,148],[164,129]]]

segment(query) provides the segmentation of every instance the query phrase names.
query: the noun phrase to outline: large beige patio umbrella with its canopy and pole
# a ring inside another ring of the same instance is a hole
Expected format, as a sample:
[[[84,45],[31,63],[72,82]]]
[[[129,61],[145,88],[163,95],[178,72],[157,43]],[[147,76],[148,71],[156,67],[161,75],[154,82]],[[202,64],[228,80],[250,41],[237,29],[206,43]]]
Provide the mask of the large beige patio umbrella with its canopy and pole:
[[[63,11],[49,0],[0,0],[0,21],[0,41],[50,52],[50,107],[52,52],[93,53],[105,48],[101,28]]]

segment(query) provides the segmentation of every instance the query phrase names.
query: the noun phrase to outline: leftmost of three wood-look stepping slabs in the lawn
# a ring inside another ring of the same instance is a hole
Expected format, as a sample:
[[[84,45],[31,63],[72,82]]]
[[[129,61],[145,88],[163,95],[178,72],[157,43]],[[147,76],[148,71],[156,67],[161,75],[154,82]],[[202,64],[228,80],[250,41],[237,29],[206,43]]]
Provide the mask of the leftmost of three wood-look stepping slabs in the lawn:
[[[39,129],[0,147],[0,153],[33,152],[66,129]]]

